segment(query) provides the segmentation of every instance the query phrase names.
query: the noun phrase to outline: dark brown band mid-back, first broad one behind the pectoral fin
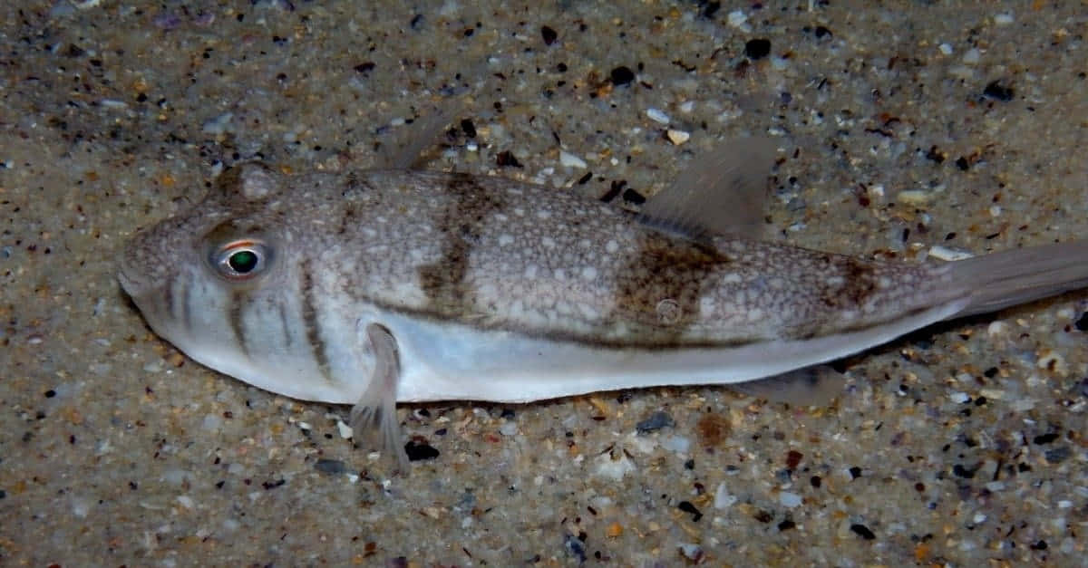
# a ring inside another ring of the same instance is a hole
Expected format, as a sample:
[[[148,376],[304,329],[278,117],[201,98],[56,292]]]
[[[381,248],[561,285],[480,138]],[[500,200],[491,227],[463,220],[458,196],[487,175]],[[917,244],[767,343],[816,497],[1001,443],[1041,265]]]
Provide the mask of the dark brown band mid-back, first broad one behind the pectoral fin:
[[[506,203],[469,174],[452,174],[445,189],[450,196],[449,205],[436,226],[443,235],[442,256],[420,267],[420,287],[438,311],[463,306],[466,311],[482,312],[484,307],[475,305],[475,293],[465,284],[465,276],[472,246],[479,243],[484,222]]]

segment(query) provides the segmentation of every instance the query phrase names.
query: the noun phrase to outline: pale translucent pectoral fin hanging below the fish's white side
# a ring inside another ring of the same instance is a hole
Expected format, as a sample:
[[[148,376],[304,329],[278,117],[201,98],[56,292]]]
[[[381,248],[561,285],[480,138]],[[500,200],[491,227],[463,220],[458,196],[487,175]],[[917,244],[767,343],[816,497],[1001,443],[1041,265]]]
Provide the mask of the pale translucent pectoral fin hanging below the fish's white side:
[[[370,323],[366,328],[366,341],[374,356],[374,371],[367,391],[351,408],[351,429],[357,441],[373,439],[374,433],[380,432],[381,450],[397,456],[400,470],[407,472],[408,454],[400,443],[397,422],[397,380],[400,378],[397,339],[390,330]]]

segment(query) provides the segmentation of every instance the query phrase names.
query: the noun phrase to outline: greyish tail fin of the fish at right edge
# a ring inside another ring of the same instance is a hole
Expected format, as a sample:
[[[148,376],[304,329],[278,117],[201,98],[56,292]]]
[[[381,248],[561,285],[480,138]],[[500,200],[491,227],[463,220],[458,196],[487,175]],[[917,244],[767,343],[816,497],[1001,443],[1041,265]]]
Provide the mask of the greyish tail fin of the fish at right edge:
[[[970,289],[955,317],[986,313],[1088,287],[1088,240],[1004,250],[949,267],[952,282]]]

